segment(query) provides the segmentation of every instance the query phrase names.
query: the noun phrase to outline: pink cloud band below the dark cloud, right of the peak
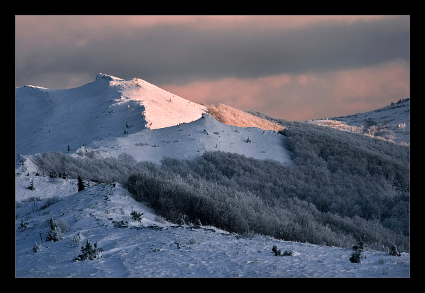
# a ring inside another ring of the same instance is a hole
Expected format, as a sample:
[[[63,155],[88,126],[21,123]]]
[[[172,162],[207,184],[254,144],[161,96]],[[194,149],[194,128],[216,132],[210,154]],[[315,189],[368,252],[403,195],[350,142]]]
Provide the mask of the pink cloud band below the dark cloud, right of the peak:
[[[409,71],[398,62],[329,73],[223,78],[160,87],[197,103],[222,103],[299,121],[374,110],[408,97],[410,90]]]

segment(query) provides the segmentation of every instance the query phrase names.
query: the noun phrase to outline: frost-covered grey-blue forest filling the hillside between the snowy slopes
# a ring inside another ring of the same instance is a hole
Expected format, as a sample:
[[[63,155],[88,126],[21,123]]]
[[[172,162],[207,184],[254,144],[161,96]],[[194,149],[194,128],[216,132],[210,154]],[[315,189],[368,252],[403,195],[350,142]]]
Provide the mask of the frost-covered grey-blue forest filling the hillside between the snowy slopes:
[[[161,166],[120,158],[34,157],[40,170],[122,182],[173,223],[200,221],[239,234],[409,251],[409,147],[304,122],[285,128],[293,164],[220,151]]]

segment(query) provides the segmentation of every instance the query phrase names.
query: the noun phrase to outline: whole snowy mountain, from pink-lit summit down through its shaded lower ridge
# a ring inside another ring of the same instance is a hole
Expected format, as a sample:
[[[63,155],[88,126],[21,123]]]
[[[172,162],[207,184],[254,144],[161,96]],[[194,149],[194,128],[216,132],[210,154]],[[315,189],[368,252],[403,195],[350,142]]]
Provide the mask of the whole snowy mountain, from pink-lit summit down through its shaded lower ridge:
[[[277,132],[222,124],[206,107],[138,78],[99,73],[73,89],[24,86],[16,88],[15,101],[16,155],[65,153],[68,146],[75,153],[86,145],[103,156],[125,152],[138,161],[221,150],[290,162]]]

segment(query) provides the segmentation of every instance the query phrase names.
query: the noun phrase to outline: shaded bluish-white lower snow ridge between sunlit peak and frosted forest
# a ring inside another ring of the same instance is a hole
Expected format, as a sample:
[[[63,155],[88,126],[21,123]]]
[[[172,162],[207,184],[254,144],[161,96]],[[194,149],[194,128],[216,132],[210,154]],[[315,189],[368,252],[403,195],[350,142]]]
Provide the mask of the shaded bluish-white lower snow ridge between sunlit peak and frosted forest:
[[[134,134],[130,132],[125,137],[96,141],[94,147],[104,157],[127,153],[137,161],[155,163],[159,163],[164,156],[193,159],[205,151],[232,152],[256,159],[290,162],[284,140],[285,137],[275,131],[230,126],[203,113],[201,119],[191,123]]]

